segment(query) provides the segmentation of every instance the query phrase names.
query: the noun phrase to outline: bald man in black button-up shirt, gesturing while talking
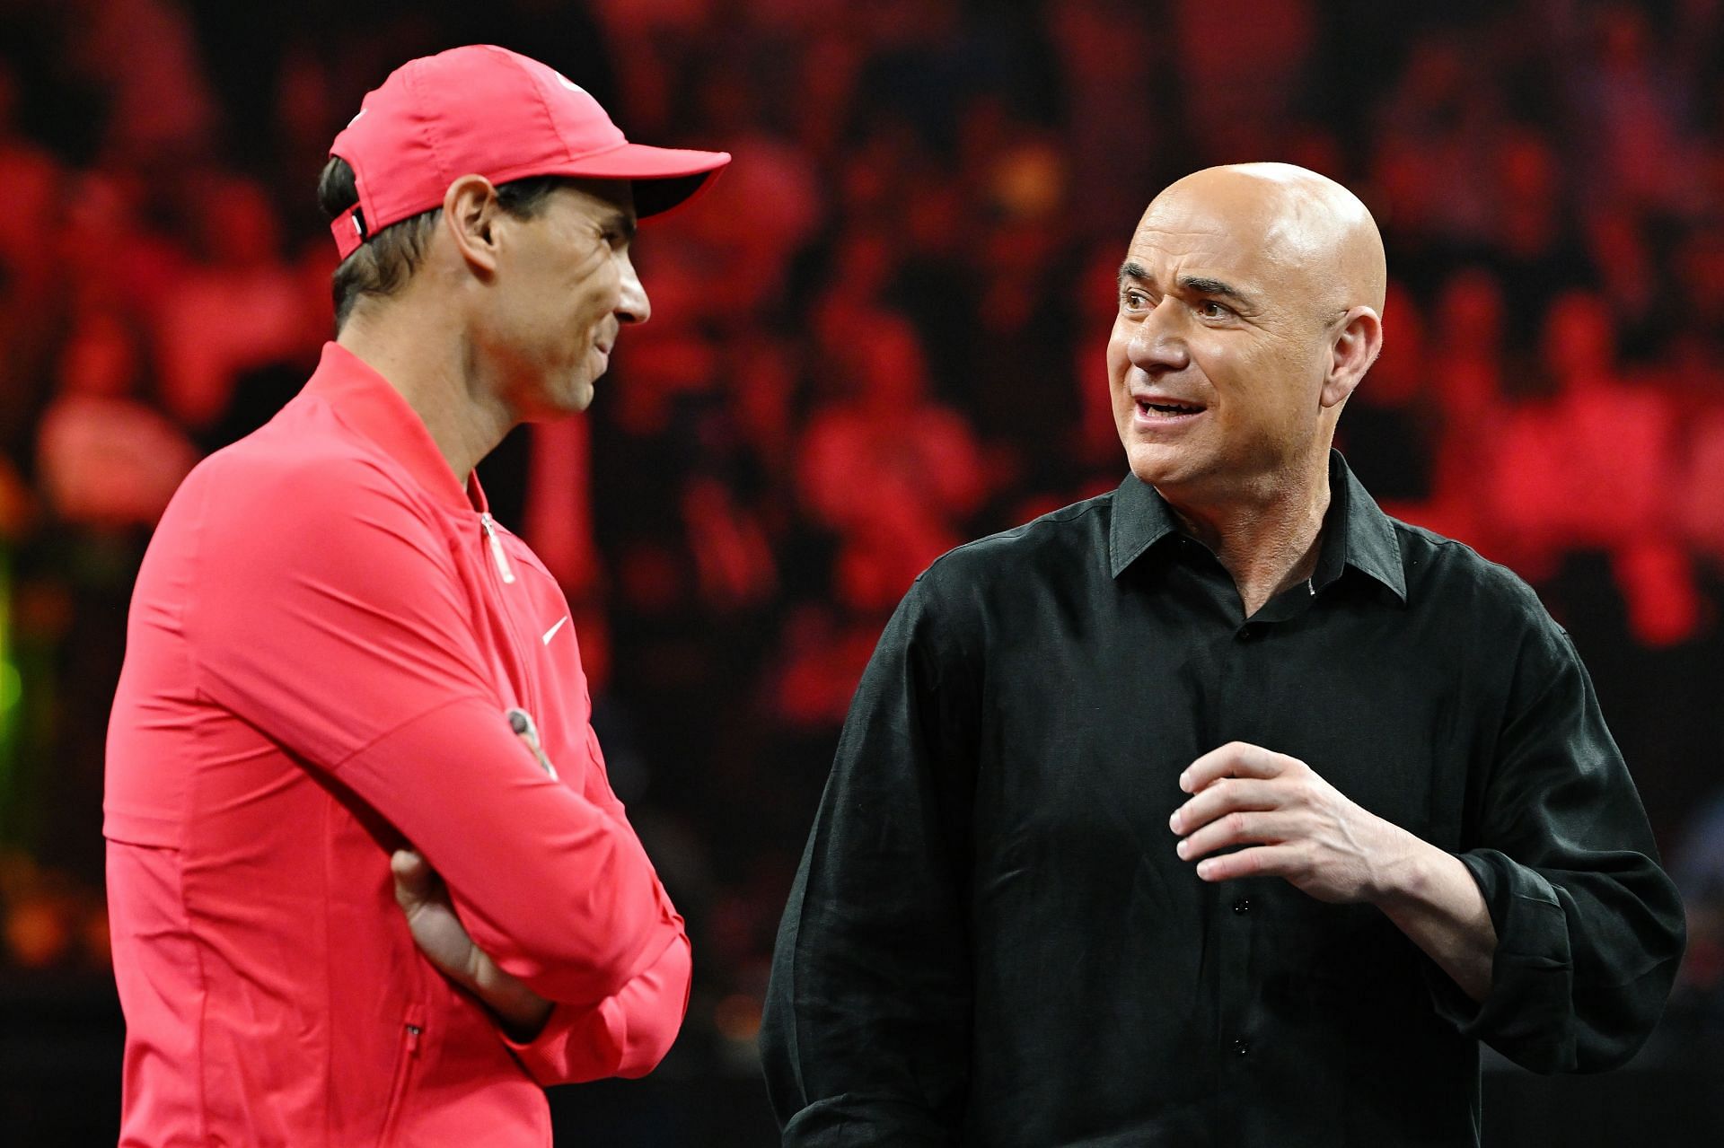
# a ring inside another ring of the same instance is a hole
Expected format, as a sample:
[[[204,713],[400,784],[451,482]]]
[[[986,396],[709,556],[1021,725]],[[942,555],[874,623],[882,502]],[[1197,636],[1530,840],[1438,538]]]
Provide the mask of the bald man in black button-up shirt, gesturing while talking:
[[[1641,1045],[1683,915],[1586,671],[1331,448],[1383,290],[1314,172],[1150,203],[1131,474],[934,562],[857,688],[767,993],[784,1145],[1477,1145],[1479,1041]]]

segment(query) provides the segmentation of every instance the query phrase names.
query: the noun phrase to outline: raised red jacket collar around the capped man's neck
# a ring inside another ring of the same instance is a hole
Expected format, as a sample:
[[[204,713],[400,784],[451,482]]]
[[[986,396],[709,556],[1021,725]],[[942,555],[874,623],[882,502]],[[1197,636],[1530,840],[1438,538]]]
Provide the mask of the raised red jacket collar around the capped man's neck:
[[[481,514],[490,508],[479,476],[469,476],[469,488],[464,490],[419,412],[388,379],[340,343],[324,343],[322,359],[303,393],[329,403],[343,424],[383,448],[445,507]]]

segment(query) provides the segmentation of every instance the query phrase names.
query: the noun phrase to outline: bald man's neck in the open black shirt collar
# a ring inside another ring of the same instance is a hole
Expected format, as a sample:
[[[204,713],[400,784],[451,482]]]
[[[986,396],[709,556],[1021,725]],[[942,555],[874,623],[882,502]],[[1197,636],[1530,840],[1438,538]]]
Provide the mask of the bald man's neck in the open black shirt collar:
[[[1193,538],[1215,552],[1233,574],[1245,615],[1317,569],[1317,541],[1329,510],[1329,457],[1314,465],[1276,476],[1272,483],[1243,496],[1183,500],[1162,491]]]

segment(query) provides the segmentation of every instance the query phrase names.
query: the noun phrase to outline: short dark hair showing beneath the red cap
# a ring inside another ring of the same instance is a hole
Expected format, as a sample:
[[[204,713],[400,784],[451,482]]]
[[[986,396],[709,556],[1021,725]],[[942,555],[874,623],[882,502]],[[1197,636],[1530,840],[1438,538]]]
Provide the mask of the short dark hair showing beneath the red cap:
[[[517,219],[531,219],[543,210],[550,193],[569,183],[562,176],[528,176],[497,184],[497,202],[505,212]],[[359,203],[359,184],[353,181],[353,167],[340,155],[331,155],[317,178],[317,205],[331,221]],[[424,259],[426,243],[443,215],[441,207],[409,215],[400,222],[383,228],[359,250],[341,260],[329,281],[329,293],[334,300],[334,329],[341,333],[353,303],[362,295],[388,296],[402,290]]]

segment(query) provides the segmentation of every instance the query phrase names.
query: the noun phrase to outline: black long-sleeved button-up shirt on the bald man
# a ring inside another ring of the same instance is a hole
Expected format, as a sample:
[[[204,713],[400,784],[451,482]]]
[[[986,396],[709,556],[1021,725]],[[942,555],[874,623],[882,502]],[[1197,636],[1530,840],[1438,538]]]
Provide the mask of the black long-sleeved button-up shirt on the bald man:
[[[1633,1055],[1683,914],[1574,646],[1340,455],[1331,491],[1314,577],[1250,621],[1134,477],[917,579],[778,939],[786,1145],[1474,1145],[1479,1039]],[[1483,1005],[1371,905],[1174,855],[1179,772],[1233,739],[1460,857]]]

